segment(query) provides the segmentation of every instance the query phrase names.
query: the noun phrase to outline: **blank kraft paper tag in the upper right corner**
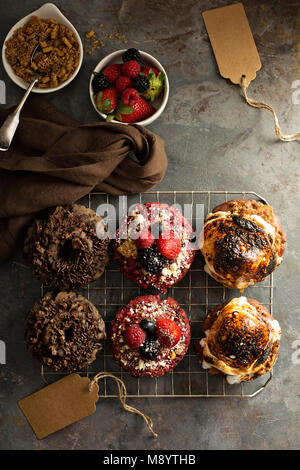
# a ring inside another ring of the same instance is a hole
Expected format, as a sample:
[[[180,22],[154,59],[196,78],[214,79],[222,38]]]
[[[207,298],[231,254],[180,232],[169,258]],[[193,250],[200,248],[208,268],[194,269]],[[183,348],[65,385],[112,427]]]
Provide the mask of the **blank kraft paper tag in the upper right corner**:
[[[240,84],[245,75],[248,87],[261,61],[243,4],[207,10],[202,16],[221,76]]]

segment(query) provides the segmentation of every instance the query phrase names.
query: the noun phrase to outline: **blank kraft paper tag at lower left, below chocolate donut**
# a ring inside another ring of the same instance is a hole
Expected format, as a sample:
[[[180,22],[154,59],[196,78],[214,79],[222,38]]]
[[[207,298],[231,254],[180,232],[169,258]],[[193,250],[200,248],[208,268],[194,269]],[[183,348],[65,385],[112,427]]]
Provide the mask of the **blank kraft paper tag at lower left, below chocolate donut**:
[[[71,374],[18,402],[36,437],[44,439],[96,411],[98,384]]]

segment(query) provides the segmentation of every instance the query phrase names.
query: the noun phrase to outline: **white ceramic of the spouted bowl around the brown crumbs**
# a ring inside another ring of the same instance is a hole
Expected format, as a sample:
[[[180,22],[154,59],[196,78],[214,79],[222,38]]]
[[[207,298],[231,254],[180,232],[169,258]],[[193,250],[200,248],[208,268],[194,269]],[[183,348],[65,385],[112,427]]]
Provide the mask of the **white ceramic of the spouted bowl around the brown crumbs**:
[[[25,16],[20,21],[18,21],[18,23],[16,23],[15,26],[13,26],[11,28],[11,30],[9,31],[8,35],[6,36],[6,38],[4,40],[3,46],[2,46],[2,62],[3,62],[4,68],[6,70],[6,73],[9,75],[9,77],[12,79],[12,81],[15,82],[17,85],[19,85],[24,90],[26,90],[28,88],[29,84],[24,82],[24,80],[22,80],[20,77],[18,77],[18,75],[15,74],[15,72],[13,71],[11,66],[9,65],[8,61],[6,60],[6,57],[5,57],[5,47],[6,47],[5,43],[13,35],[14,31],[16,29],[21,28],[22,26],[24,26],[24,24],[27,23],[29,18],[33,15],[38,16],[39,18],[43,18],[43,19],[52,18],[54,20],[57,20],[59,23],[66,25],[68,28],[71,29],[71,31],[73,31],[73,33],[74,33],[74,35],[75,35],[75,37],[78,41],[78,44],[79,44],[79,51],[80,51],[79,64],[78,64],[77,69],[73,73],[72,77],[70,77],[68,80],[66,80],[65,82],[63,82],[61,85],[59,85],[56,88],[42,88],[41,89],[41,88],[34,87],[33,90],[32,90],[34,93],[52,93],[54,91],[61,90],[62,88],[67,86],[76,77],[76,75],[78,74],[78,72],[80,70],[80,67],[81,67],[81,64],[82,64],[82,59],[83,59],[82,42],[81,42],[81,39],[80,39],[80,36],[79,36],[77,30],[74,28],[72,23],[70,23],[70,21],[61,13],[61,11],[53,3],[45,3],[41,8],[39,8],[38,10],[33,11],[29,15]]]

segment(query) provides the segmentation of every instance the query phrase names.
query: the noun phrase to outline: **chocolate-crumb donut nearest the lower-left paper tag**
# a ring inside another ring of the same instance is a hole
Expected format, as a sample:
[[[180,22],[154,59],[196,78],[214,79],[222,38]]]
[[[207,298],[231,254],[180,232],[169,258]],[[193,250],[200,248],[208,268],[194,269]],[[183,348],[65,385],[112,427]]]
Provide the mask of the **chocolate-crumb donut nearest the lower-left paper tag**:
[[[48,292],[25,321],[28,351],[56,371],[81,370],[91,364],[105,337],[98,310],[75,292]]]

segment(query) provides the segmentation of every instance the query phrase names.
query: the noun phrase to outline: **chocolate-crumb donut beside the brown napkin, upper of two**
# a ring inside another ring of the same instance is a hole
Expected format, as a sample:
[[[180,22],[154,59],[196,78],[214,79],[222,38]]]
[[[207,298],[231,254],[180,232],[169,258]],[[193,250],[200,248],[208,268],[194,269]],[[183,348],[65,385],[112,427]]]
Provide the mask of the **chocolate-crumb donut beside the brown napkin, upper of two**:
[[[79,204],[57,206],[29,227],[24,256],[45,287],[78,289],[104,272],[109,238],[98,235],[105,232],[93,210]]]

